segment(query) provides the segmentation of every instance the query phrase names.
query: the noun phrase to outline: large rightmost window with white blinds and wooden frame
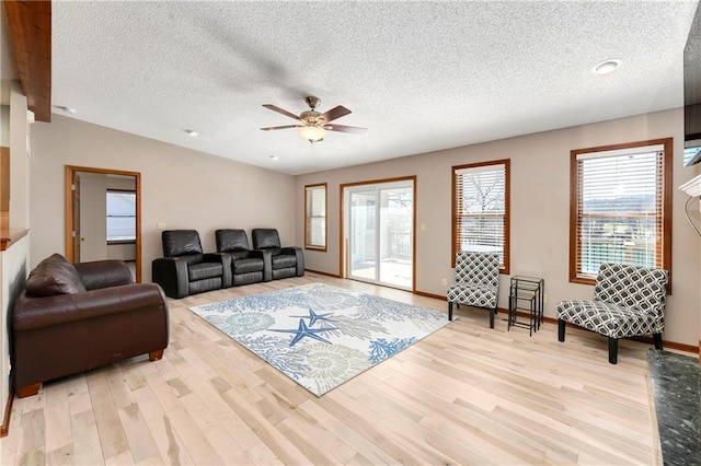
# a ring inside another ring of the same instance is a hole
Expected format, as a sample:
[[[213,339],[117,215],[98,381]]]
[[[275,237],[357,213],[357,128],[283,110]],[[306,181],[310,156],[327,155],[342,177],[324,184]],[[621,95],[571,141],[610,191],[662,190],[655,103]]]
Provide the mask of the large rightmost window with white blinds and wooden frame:
[[[671,139],[572,151],[570,280],[602,263],[669,270]]]

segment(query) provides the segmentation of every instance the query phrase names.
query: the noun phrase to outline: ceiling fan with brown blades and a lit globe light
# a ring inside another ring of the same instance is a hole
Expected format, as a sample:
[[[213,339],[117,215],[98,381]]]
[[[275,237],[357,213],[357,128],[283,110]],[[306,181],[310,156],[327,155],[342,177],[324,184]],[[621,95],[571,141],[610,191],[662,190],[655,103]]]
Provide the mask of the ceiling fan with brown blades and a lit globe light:
[[[367,131],[367,128],[358,128],[356,126],[345,126],[345,125],[336,125],[331,124],[334,119],[346,116],[350,113],[346,107],[338,105],[326,113],[317,112],[317,106],[321,102],[319,97],[309,96],[304,98],[307,105],[309,105],[309,110],[304,110],[299,116],[284,110],[280,107],[276,107],[273,104],[263,104],[265,108],[269,108],[273,112],[277,112],[290,118],[294,118],[301,123],[301,125],[286,125],[286,126],[271,126],[267,128],[261,128],[263,131],[272,131],[274,129],[288,129],[288,128],[298,128],[299,133],[311,143],[323,141],[324,135],[326,131],[338,131],[338,132],[349,132],[353,135],[364,135]]]

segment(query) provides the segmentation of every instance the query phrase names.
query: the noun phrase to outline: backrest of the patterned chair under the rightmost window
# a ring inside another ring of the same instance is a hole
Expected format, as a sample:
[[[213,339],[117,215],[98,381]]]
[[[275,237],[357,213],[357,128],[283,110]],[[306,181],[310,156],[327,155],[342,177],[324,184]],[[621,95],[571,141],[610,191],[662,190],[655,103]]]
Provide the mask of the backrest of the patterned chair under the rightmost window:
[[[667,270],[622,264],[601,264],[594,287],[594,299],[663,314],[668,281]]]

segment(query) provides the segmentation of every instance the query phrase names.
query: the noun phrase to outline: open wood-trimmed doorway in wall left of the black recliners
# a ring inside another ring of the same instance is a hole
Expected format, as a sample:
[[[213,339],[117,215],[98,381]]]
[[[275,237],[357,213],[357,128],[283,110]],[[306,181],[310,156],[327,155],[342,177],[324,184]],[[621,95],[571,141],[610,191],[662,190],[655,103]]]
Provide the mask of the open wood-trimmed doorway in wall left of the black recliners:
[[[66,258],[125,260],[141,282],[141,174],[66,165]]]

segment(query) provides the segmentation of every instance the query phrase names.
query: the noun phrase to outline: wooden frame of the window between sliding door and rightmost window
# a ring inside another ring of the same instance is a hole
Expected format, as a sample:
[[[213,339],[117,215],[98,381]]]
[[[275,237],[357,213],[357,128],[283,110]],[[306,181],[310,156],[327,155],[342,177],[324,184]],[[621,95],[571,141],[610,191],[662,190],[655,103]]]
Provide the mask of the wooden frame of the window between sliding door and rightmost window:
[[[499,160],[492,160],[492,161],[486,161],[486,162],[476,162],[476,163],[469,163],[469,164],[463,164],[463,165],[453,165],[450,173],[451,173],[451,185],[452,185],[452,193],[451,193],[451,200],[452,200],[452,208],[451,208],[451,257],[450,257],[450,265],[451,267],[456,266],[456,255],[459,252],[458,248],[458,233],[459,233],[459,228],[458,228],[458,211],[461,207],[461,202],[458,200],[458,196],[457,196],[457,171],[460,170],[466,170],[466,168],[483,168],[485,166],[492,166],[492,165],[504,165],[504,243],[503,243],[503,247],[504,247],[504,260],[503,264],[499,264],[499,273],[502,275],[508,275],[509,270],[510,270],[510,190],[512,190],[512,183],[510,183],[510,159],[499,159]],[[460,209],[461,210],[461,209]]]

